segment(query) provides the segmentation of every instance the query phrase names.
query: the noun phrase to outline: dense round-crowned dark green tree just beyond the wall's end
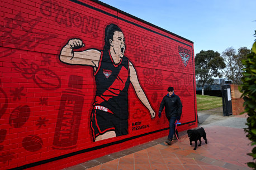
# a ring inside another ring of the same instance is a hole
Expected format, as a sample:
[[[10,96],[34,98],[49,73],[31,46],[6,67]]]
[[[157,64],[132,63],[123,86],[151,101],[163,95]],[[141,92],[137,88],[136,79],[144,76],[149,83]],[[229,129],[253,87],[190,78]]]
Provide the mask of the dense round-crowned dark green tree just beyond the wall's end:
[[[213,50],[200,51],[195,57],[195,67],[196,67],[196,79],[198,79],[198,85],[202,87],[202,95],[205,84],[211,84],[214,77],[221,77],[219,69],[225,68],[225,63],[223,58],[220,57],[219,52],[214,52]]]

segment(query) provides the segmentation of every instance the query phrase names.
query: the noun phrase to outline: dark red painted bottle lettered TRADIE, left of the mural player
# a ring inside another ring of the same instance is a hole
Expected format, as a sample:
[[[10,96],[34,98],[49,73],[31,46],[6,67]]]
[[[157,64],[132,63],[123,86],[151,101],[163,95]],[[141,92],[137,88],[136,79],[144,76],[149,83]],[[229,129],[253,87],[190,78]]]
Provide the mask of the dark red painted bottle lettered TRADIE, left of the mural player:
[[[82,116],[84,95],[83,77],[70,75],[68,89],[63,91],[55,128],[53,148],[72,149],[77,147],[79,125]]]

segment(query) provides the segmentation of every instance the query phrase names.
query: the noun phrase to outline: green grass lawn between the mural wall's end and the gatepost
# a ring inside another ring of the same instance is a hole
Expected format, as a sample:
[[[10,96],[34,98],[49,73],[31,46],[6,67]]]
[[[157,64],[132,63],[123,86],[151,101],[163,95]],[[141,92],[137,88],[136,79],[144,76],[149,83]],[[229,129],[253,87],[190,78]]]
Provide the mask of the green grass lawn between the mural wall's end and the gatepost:
[[[197,111],[219,108],[222,106],[222,98],[207,95],[196,95]]]

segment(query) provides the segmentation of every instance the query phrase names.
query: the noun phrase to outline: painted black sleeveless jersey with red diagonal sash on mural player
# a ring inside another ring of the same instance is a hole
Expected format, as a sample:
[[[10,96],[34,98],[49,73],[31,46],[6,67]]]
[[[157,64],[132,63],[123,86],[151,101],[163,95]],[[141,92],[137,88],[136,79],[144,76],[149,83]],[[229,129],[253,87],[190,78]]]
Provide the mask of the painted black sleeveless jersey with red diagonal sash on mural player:
[[[124,56],[116,65],[110,51],[101,51],[94,76],[96,96],[93,105],[104,106],[118,118],[128,119],[129,59]]]

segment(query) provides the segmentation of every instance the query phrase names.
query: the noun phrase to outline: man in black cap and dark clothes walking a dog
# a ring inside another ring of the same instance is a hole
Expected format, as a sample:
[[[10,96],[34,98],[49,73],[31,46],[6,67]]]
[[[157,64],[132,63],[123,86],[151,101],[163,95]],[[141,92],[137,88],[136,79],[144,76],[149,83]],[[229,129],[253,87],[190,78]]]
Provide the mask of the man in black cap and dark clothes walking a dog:
[[[170,145],[173,140],[173,135],[175,133],[175,122],[176,120],[181,119],[182,103],[181,99],[179,99],[179,96],[174,94],[173,87],[169,87],[167,91],[168,94],[164,96],[160,104],[158,116],[159,118],[161,118],[161,113],[165,107],[165,115],[169,120],[170,127],[168,139],[165,142]]]

